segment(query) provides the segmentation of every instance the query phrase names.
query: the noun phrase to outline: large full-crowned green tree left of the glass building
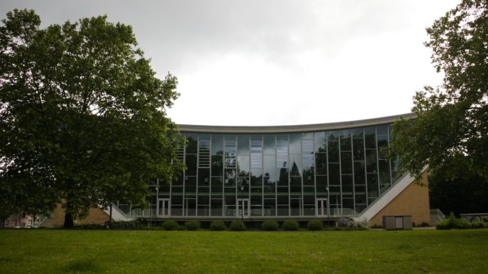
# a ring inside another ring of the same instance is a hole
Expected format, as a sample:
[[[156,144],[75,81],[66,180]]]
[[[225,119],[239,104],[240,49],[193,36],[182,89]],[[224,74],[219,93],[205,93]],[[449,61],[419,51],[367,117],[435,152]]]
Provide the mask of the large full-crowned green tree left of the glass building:
[[[166,117],[176,77],[155,77],[130,26],[101,16],[41,29],[33,10],[1,22],[0,206],[61,202],[70,227],[90,207],[143,204],[148,182],[182,168]]]

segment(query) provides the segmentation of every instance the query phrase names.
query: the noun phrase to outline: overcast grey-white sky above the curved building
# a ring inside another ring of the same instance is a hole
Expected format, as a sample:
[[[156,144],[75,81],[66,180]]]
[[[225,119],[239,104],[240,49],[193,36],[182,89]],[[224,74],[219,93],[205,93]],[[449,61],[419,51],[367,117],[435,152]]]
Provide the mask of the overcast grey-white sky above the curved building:
[[[6,1],[43,26],[106,14],[130,24],[178,124],[284,125],[409,113],[438,85],[425,28],[459,1]]]

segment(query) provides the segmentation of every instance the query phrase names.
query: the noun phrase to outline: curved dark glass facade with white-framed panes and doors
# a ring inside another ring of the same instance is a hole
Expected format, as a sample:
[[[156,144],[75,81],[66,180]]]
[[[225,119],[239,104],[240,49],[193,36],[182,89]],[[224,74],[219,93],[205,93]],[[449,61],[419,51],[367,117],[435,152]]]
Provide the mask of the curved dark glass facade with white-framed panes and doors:
[[[152,210],[131,215],[358,216],[399,177],[396,160],[386,159],[390,129],[390,123],[273,133],[187,128],[187,145],[178,148],[187,169],[171,184],[152,186]]]

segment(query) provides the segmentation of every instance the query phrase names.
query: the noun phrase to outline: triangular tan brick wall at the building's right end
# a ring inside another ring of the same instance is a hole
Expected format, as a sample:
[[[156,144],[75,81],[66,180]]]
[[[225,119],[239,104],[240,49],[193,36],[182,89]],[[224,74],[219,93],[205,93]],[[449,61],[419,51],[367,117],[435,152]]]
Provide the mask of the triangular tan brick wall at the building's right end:
[[[427,171],[422,174],[419,186],[412,182],[402,193],[397,195],[386,207],[371,220],[369,225],[381,225],[383,216],[388,215],[411,215],[415,224],[430,222],[429,210],[429,189],[427,188]]]

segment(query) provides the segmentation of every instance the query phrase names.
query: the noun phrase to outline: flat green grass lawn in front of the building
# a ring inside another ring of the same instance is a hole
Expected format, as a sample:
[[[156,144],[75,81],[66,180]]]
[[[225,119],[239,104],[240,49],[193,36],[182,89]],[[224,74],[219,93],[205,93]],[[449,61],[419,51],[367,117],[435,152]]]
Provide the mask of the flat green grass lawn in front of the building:
[[[0,273],[487,273],[488,229],[0,229]]]

